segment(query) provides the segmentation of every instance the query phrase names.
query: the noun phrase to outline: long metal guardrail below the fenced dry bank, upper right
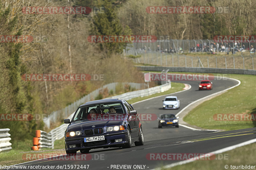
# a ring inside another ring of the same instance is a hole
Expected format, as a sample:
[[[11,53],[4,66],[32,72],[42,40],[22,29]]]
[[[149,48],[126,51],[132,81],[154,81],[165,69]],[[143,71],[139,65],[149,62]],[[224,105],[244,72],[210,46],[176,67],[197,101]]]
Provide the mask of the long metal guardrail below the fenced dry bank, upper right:
[[[191,72],[191,73],[225,73],[225,74],[250,74],[256,75],[256,70],[231,69],[231,68],[198,68],[198,67],[163,67],[163,66],[135,66],[143,71]]]

